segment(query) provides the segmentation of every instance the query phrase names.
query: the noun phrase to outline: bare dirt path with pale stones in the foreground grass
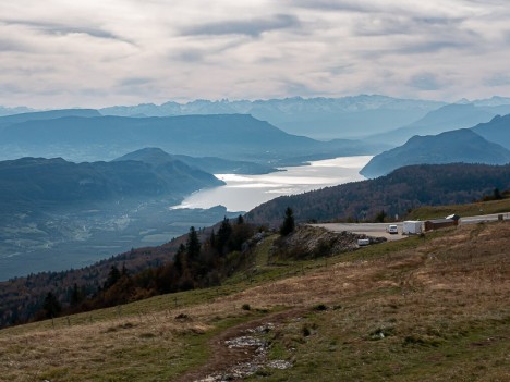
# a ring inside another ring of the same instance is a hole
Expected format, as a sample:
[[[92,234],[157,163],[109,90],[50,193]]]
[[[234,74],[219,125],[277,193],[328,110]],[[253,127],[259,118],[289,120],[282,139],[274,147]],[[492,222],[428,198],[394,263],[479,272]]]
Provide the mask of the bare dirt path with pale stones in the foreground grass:
[[[241,381],[243,377],[268,366],[266,359],[268,345],[259,336],[291,318],[304,315],[307,310],[306,308],[286,310],[227,329],[209,341],[208,346],[211,348],[212,357],[207,363],[186,372],[175,381]],[[277,368],[291,367],[286,360],[271,365]]]

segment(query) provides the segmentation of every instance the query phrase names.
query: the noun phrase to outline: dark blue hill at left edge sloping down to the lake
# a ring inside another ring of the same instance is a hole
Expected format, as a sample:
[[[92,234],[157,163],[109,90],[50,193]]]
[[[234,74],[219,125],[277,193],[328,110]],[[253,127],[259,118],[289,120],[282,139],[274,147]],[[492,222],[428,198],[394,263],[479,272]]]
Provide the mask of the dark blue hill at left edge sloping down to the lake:
[[[73,163],[61,158],[0,162],[0,212],[84,206],[126,198],[173,197],[223,182],[173,160]]]

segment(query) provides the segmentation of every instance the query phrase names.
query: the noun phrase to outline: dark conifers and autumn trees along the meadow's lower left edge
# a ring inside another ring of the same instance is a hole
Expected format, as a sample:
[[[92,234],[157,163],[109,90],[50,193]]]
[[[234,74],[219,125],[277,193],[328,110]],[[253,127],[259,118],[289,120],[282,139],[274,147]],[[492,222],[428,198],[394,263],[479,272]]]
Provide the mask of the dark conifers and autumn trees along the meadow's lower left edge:
[[[245,264],[254,244],[252,238],[260,231],[263,226],[246,223],[242,215],[233,221],[224,218],[216,230],[190,227],[177,250],[167,252],[166,261],[156,267],[133,272],[124,263],[112,263],[102,282],[93,279],[72,286],[59,282],[65,279],[65,272],[59,272],[50,289],[39,300],[25,306],[25,310],[4,309],[1,324],[20,324],[220,285]]]

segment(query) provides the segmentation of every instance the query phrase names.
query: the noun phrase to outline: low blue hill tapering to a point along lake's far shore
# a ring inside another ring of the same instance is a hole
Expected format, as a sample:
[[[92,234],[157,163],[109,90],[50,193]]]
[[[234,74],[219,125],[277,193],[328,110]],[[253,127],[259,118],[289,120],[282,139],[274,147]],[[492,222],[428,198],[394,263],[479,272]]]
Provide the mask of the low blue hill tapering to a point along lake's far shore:
[[[166,163],[168,161],[180,160],[190,167],[198,168],[209,173],[215,174],[267,174],[269,172],[278,171],[276,168],[271,168],[265,164],[246,162],[246,161],[233,161],[217,157],[202,157],[195,158],[183,155],[170,155],[165,152],[160,148],[144,148],[134,152],[126,153],[121,158],[114,159],[114,161],[121,160],[137,160],[147,163]]]

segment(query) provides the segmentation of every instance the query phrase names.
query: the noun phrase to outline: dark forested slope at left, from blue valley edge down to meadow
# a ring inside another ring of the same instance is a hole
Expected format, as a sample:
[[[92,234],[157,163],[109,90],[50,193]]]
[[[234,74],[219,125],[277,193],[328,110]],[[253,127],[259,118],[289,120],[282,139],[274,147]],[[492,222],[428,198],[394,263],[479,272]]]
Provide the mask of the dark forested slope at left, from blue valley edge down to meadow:
[[[216,232],[192,226],[166,245],[132,249],[90,267],[0,282],[0,328],[218,285],[243,263],[255,233],[242,217],[226,218]]]

